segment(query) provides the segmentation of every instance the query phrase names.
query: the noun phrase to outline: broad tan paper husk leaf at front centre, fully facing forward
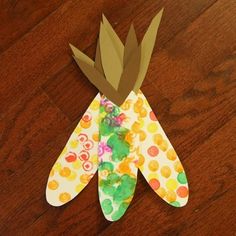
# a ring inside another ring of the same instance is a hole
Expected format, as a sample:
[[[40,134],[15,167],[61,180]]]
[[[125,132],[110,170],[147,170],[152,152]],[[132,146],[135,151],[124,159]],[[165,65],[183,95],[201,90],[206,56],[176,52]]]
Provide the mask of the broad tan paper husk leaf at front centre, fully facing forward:
[[[99,45],[102,59],[102,67],[107,81],[117,89],[119,85],[120,76],[123,67],[120,64],[119,57],[113,46],[111,38],[109,37],[103,24],[100,27]]]

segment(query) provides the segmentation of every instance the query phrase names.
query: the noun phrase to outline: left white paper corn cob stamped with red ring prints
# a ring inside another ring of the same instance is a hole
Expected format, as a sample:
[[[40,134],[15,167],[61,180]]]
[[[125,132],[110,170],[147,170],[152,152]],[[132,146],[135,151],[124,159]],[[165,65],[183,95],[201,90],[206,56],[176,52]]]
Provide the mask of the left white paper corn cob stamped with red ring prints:
[[[97,171],[99,106],[100,94],[88,107],[51,169],[46,198],[53,206],[61,206],[75,198]]]

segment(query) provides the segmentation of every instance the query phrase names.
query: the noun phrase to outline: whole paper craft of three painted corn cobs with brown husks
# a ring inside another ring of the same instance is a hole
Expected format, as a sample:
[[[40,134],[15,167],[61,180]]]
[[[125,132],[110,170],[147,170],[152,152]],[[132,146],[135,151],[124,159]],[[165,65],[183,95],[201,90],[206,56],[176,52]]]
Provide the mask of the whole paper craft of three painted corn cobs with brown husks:
[[[143,93],[162,11],[139,45],[131,25],[125,46],[103,16],[95,62],[71,45],[74,59],[99,89],[50,172],[46,197],[61,206],[98,171],[99,201],[107,220],[127,210],[137,171],[167,203],[184,206],[188,184],[183,166]]]

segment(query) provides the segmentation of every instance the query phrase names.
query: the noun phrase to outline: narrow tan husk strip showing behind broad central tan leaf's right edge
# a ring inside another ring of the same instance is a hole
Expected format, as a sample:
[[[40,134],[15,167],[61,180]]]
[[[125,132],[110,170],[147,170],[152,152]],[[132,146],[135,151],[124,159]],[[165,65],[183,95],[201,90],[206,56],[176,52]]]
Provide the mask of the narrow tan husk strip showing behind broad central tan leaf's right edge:
[[[103,20],[103,25],[104,25],[107,33],[109,34],[109,37],[111,38],[112,43],[114,44],[115,50],[116,50],[117,55],[120,59],[120,64],[122,65],[123,64],[123,55],[124,55],[124,45],[104,15],[102,15],[102,20]]]

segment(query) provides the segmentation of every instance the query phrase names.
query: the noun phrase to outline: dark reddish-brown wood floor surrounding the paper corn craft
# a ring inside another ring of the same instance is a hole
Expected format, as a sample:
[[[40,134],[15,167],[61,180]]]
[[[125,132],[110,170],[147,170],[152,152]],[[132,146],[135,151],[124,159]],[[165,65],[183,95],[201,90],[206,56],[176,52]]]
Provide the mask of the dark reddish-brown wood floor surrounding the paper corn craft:
[[[105,13],[142,38],[165,7],[142,86],[188,175],[176,209],[139,174],[124,217],[106,221],[97,177],[71,203],[45,200],[48,173],[97,93],[68,43],[94,55]],[[235,0],[0,0],[0,235],[235,235]]]

